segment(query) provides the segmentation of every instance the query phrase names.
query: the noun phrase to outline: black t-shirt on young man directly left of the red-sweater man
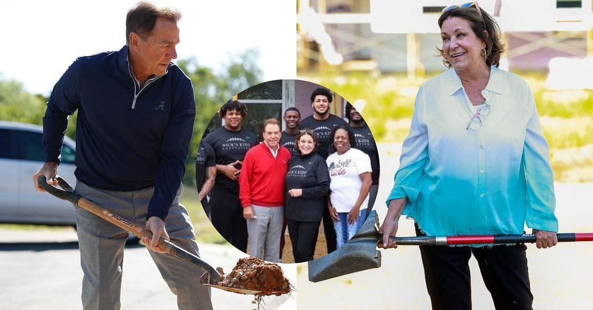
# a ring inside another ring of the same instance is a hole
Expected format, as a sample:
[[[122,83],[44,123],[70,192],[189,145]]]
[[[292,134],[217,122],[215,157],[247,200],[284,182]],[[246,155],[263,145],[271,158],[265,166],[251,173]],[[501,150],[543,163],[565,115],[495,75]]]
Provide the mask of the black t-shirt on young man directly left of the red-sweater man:
[[[228,165],[235,161],[243,161],[245,154],[251,146],[259,144],[256,135],[249,130],[241,129],[238,132],[231,132],[225,127],[214,130],[204,140],[212,146],[216,164],[218,165]],[[241,165],[237,165],[235,168],[241,169]],[[238,182],[232,181],[224,174],[216,175],[214,186],[231,191],[232,193],[239,192]]]

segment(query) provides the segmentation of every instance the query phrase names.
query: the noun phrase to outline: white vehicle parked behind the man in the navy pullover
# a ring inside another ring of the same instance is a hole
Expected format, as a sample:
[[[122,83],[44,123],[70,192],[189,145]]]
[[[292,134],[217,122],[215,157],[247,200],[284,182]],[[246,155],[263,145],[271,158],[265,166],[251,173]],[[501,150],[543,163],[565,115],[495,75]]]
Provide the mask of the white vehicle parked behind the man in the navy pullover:
[[[0,223],[76,226],[72,203],[37,191],[33,174],[44,163],[43,128],[0,121]],[[74,140],[65,137],[58,175],[74,186]]]

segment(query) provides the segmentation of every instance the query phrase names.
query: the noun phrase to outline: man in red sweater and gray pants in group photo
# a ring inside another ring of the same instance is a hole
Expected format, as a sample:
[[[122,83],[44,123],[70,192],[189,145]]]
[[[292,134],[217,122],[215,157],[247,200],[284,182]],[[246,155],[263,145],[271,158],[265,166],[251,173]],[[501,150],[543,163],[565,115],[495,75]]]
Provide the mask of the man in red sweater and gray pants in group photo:
[[[284,219],[284,183],[291,153],[280,145],[280,123],[263,123],[263,142],[253,146],[239,175],[239,199],[247,219],[249,255],[280,261],[280,234]]]

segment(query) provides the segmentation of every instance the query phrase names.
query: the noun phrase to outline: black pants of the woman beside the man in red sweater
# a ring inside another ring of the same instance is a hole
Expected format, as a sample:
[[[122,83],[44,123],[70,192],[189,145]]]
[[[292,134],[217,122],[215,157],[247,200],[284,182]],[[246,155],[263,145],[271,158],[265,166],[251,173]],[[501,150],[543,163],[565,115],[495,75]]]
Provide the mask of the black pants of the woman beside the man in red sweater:
[[[313,260],[319,224],[319,222],[288,220],[288,234],[291,236],[295,263]]]

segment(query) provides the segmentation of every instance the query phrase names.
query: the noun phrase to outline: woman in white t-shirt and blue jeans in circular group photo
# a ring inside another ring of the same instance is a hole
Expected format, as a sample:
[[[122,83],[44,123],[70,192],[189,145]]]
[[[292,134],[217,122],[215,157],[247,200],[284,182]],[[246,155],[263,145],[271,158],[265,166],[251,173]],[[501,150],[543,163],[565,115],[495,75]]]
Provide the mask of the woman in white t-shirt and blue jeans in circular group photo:
[[[336,149],[327,157],[330,172],[330,201],[327,204],[336,229],[337,247],[346,243],[362,226],[371,188],[371,159],[355,148],[349,126],[336,126],[331,132]]]

